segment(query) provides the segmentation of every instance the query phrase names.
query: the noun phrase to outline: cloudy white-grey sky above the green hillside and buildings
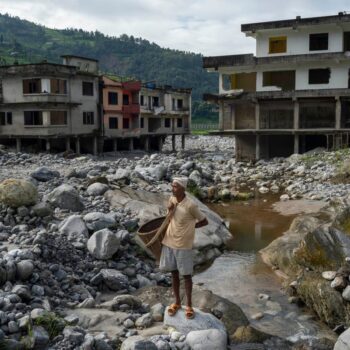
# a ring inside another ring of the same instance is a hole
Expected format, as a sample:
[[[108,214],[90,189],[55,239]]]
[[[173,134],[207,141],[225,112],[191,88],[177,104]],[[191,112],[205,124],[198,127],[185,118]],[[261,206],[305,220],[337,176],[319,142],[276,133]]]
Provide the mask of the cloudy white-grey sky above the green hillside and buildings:
[[[51,28],[142,37],[209,55],[254,51],[242,23],[350,13],[349,0],[0,0],[8,13]]]

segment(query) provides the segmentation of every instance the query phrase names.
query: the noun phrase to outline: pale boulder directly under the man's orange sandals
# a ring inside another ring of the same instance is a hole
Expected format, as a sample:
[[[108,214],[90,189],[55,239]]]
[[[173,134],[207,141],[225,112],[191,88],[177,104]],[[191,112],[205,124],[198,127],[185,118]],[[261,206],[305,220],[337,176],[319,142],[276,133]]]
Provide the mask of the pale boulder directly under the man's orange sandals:
[[[205,329],[217,329],[226,334],[224,324],[215,316],[194,308],[195,317],[188,320],[185,316],[185,310],[179,310],[174,316],[168,315],[168,308],[164,313],[164,326],[173,327],[178,332],[187,335],[191,331],[199,331]]]

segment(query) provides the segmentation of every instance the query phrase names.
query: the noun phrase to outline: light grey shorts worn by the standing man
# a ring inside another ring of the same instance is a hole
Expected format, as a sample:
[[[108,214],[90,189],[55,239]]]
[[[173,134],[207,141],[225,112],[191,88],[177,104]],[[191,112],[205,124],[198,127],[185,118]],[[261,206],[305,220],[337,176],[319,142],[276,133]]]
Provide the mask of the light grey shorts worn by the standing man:
[[[173,249],[163,245],[159,269],[164,272],[178,270],[182,276],[192,275],[193,250]]]

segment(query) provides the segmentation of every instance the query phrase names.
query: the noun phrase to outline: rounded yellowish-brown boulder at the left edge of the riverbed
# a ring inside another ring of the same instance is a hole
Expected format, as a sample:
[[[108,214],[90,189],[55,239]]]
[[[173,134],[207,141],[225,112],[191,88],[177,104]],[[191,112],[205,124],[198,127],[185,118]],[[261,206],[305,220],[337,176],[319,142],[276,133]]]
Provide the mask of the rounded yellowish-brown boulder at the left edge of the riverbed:
[[[18,208],[33,205],[37,200],[38,191],[30,181],[7,179],[0,183],[0,203]]]

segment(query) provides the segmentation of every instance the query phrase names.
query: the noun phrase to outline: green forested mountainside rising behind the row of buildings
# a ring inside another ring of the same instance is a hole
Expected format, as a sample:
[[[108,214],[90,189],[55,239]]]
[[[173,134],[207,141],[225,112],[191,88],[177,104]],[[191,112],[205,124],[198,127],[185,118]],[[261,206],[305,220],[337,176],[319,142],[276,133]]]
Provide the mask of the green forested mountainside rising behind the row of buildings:
[[[202,103],[201,99],[203,93],[217,90],[218,77],[202,69],[199,54],[161,48],[126,34],[110,37],[98,31],[50,29],[0,14],[0,64],[44,59],[60,63],[60,56],[64,54],[96,58],[100,70],[105,73],[156,81],[161,85],[192,87],[195,114],[215,115],[215,109]]]

